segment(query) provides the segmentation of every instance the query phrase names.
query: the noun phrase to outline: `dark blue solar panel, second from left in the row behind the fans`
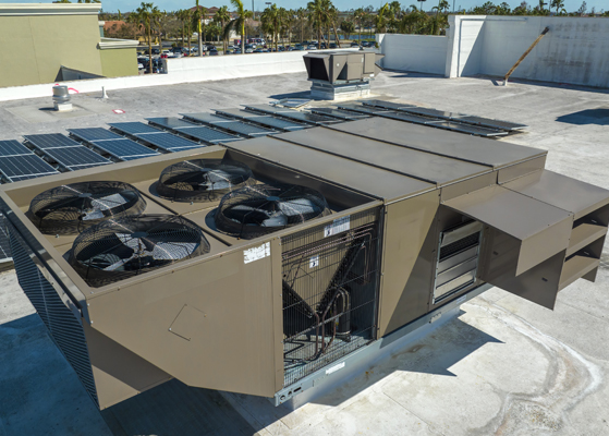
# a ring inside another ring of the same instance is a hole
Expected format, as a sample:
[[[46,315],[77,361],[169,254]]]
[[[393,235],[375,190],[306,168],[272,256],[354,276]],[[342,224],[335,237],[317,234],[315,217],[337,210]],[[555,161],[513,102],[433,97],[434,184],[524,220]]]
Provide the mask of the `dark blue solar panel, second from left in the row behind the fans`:
[[[24,137],[48,158],[70,171],[111,164],[110,160],[60,133]]]

